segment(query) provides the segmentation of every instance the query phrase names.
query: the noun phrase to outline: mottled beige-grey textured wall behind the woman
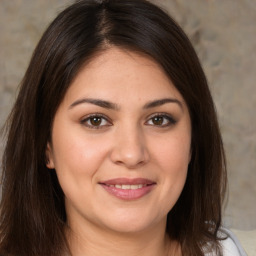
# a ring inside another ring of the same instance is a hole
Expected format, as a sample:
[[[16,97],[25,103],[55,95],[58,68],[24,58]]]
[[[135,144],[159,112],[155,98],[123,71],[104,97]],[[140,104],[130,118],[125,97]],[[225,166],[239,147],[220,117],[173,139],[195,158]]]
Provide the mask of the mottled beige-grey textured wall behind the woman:
[[[125,0],[124,0],[125,1]],[[0,0],[0,125],[40,35],[72,1]],[[226,223],[256,228],[256,0],[154,0],[191,38],[207,74],[228,160]]]

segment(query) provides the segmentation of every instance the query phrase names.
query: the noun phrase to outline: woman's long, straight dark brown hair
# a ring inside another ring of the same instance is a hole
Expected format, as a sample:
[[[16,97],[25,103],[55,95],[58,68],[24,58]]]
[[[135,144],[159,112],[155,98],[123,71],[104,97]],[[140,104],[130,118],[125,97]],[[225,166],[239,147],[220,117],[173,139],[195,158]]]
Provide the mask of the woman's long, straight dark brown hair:
[[[217,231],[226,185],[225,157],[212,97],[182,29],[144,0],[84,0],[50,24],[32,56],[7,122],[3,155],[0,254],[60,256],[64,195],[45,165],[56,110],[80,68],[120,47],[158,62],[185,99],[192,120],[192,158],[184,190],[168,214],[167,232],[186,255],[219,251]]]

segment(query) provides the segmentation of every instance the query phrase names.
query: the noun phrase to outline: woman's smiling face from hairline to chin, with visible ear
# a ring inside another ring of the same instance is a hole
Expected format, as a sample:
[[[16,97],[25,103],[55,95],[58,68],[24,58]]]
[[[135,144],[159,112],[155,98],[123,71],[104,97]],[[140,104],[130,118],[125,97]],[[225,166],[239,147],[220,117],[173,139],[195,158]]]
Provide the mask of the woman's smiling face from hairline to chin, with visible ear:
[[[137,232],[165,226],[183,189],[191,125],[152,59],[111,48],[77,75],[48,144],[70,226]]]

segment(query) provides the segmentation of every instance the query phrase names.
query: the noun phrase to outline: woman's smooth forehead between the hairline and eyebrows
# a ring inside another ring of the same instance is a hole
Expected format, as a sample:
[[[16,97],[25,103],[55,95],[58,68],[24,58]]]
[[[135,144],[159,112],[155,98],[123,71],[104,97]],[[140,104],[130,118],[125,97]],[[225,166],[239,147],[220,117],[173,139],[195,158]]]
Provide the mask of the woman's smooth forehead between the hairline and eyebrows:
[[[100,97],[124,102],[131,99],[182,96],[162,67],[152,58],[117,47],[97,53],[69,87],[66,98]]]

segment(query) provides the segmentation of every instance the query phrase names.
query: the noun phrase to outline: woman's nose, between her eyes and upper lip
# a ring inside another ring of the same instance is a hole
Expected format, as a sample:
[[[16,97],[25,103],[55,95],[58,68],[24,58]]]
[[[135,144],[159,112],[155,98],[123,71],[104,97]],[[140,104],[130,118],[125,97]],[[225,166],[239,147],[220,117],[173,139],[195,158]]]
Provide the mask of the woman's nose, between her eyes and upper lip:
[[[149,161],[145,136],[139,128],[119,129],[114,137],[111,161],[135,169]]]

